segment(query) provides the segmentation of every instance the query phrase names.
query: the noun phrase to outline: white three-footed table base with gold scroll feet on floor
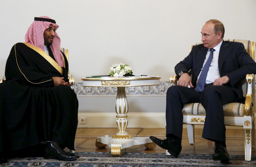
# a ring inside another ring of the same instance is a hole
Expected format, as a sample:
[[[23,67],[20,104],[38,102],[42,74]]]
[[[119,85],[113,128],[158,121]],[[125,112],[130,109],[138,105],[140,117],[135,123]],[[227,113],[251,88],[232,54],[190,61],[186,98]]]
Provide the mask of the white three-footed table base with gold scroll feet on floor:
[[[122,156],[122,149],[134,145],[142,145],[148,149],[153,149],[156,144],[149,137],[133,137],[131,139],[113,139],[112,136],[100,136],[96,139],[96,147],[103,148],[107,145],[111,148],[111,156]]]

